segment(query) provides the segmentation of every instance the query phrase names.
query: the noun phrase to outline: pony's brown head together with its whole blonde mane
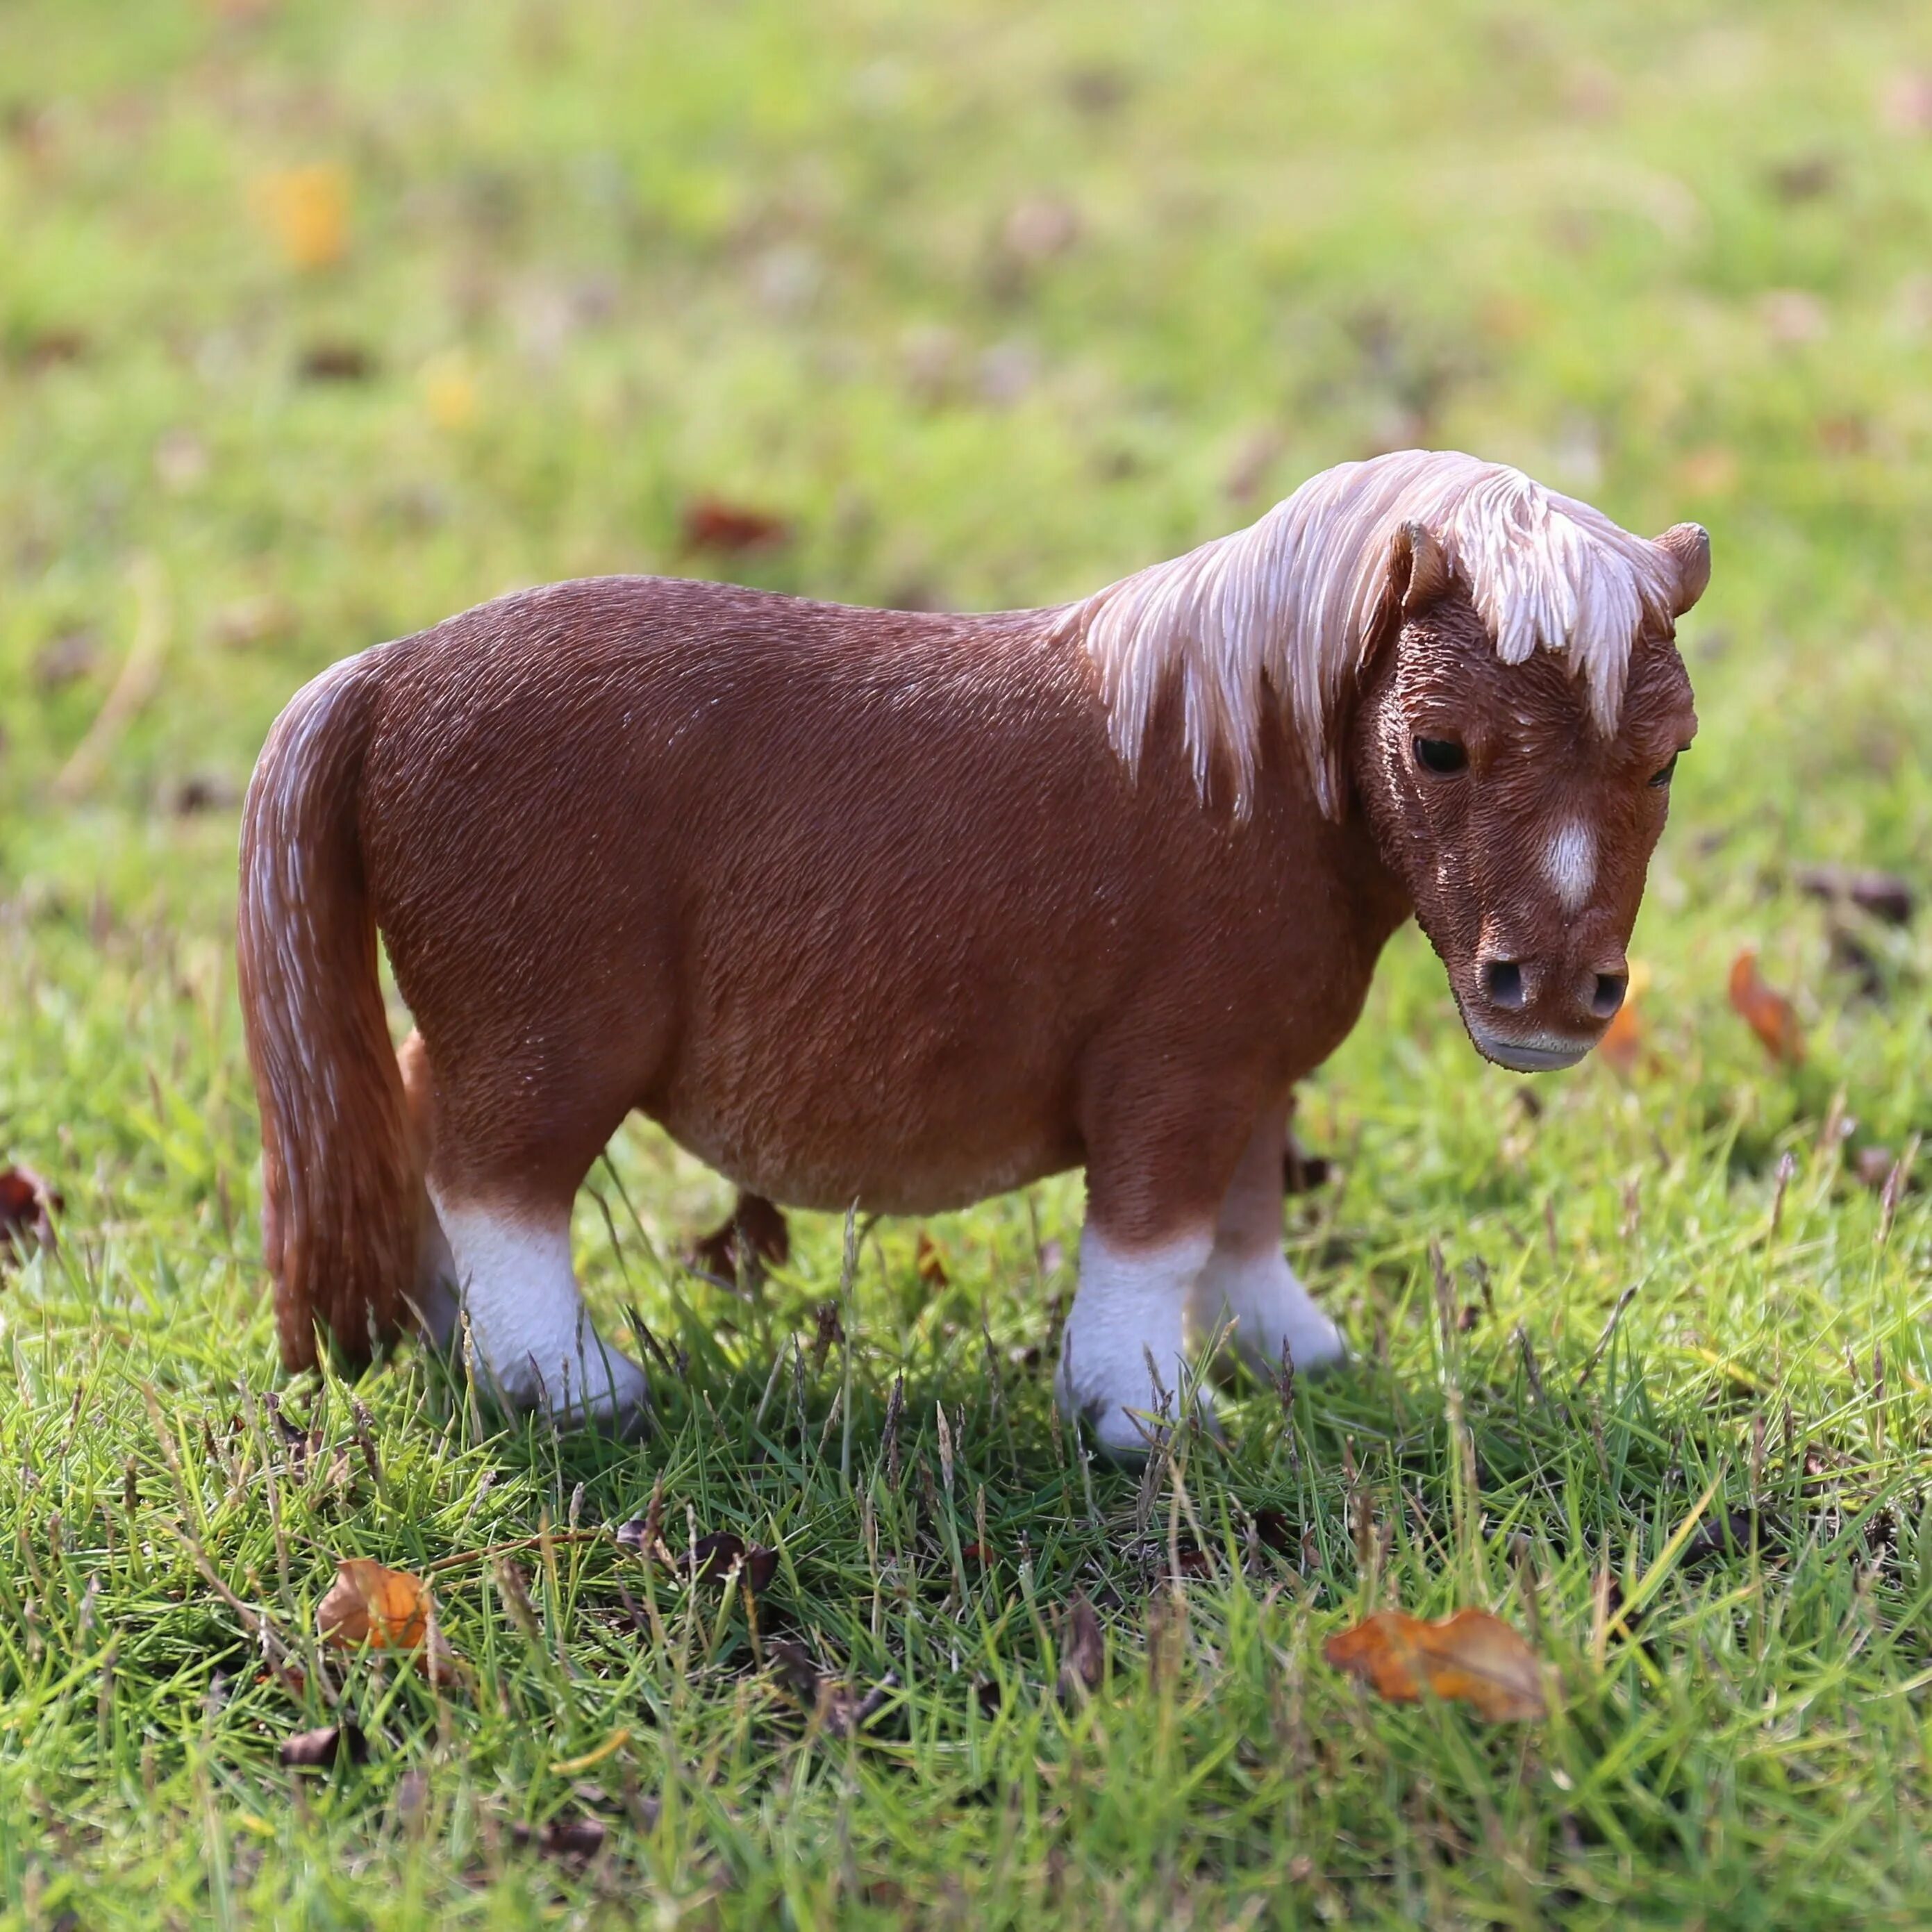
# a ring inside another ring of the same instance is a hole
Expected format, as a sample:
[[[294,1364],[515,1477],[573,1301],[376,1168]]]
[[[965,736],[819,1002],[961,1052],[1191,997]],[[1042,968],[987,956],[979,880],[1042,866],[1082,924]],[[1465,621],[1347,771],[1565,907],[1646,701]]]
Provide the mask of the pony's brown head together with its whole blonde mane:
[[[1696,730],[1675,620],[1710,576],[1517,469],[1403,450],[1074,607],[1115,746],[1179,682],[1206,796],[1252,808],[1265,709],[1329,817],[1360,808],[1476,1047],[1569,1066],[1627,987],[1671,769]]]

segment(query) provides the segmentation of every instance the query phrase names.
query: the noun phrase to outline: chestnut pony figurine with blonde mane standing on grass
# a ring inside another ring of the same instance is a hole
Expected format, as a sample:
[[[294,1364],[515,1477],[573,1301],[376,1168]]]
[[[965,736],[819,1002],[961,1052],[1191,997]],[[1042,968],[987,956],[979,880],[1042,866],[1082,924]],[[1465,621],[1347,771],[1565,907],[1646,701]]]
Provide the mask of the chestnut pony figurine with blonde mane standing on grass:
[[[622,1424],[570,1208],[634,1109],[800,1208],[1084,1167],[1057,1395],[1113,1453],[1190,1337],[1337,1358],[1281,1252],[1294,1082],[1410,914],[1484,1057],[1602,1037],[1708,576],[1694,524],[1406,450],[1059,609],[597,578],[334,665],[242,831],[282,1360],[468,1314],[506,1405]]]

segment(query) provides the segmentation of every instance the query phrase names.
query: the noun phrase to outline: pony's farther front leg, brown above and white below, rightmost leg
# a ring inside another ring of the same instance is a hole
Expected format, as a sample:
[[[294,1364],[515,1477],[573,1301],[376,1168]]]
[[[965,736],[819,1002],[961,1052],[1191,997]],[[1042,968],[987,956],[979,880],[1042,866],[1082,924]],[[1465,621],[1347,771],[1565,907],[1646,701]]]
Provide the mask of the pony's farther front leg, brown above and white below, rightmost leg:
[[[1194,1279],[1190,1325],[1200,1343],[1231,1329],[1235,1349],[1260,1376],[1325,1368],[1347,1352],[1341,1329],[1316,1306],[1281,1252],[1281,1157],[1289,1103],[1256,1121],[1235,1179],[1221,1200],[1213,1248]]]

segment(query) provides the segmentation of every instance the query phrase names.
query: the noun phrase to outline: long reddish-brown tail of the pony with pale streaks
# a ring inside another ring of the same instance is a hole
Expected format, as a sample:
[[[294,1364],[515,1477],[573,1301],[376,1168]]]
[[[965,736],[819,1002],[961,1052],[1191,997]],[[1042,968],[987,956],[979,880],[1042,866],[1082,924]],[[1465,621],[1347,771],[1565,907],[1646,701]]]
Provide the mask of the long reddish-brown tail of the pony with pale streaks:
[[[317,1329],[352,1364],[400,1325],[415,1277],[421,1165],[377,978],[357,837],[381,657],[296,694],[242,815],[242,1024],[261,1101],[263,1246],[282,1364]]]

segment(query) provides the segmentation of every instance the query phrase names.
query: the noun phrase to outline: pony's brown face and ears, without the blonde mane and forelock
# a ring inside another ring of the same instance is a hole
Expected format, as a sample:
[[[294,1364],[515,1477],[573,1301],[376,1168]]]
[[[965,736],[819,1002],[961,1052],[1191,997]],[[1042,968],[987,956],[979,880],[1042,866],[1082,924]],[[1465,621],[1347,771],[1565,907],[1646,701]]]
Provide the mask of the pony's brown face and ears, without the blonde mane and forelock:
[[[1615,709],[1561,649],[1507,663],[1422,526],[1391,545],[1389,616],[1349,728],[1358,798],[1470,1039],[1571,1066],[1629,985],[1625,947],[1696,713],[1671,641],[1710,572],[1692,524],[1652,547],[1665,595],[1621,639]]]

